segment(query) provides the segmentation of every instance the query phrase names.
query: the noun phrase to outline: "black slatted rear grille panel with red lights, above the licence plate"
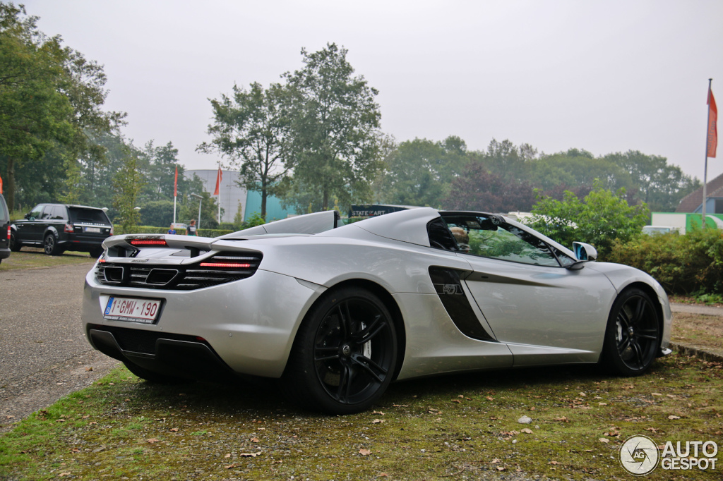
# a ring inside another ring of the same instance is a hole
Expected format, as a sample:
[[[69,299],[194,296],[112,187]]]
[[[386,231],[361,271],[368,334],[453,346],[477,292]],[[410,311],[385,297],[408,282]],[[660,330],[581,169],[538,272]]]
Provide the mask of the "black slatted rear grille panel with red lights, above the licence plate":
[[[260,252],[219,253],[195,264],[127,264],[100,262],[100,284],[146,289],[195,290],[251,277],[259,268]]]

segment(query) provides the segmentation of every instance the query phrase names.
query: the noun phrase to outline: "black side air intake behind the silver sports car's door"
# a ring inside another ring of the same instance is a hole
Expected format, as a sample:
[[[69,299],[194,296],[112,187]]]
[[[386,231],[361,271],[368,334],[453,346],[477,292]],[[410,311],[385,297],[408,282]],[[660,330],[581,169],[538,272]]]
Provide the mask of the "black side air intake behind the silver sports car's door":
[[[461,272],[463,271],[447,267],[429,267],[429,277],[432,279],[432,284],[435,285],[442,306],[445,306],[445,310],[452,322],[457,326],[457,329],[472,339],[496,342],[496,339],[484,330],[482,324],[479,324],[479,319],[477,319],[469,300],[467,300],[467,296],[464,294],[460,280]]]

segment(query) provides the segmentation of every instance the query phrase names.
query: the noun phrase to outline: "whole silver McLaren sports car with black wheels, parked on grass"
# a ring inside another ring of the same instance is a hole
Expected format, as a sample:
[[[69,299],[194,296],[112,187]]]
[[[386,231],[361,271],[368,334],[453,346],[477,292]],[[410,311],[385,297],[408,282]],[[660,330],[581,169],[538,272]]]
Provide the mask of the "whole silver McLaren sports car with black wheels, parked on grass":
[[[85,279],[87,339],[148,381],[279,378],[337,414],[395,379],[565,363],[637,376],[670,352],[662,287],[587,244],[484,212],[339,224],[108,238]]]

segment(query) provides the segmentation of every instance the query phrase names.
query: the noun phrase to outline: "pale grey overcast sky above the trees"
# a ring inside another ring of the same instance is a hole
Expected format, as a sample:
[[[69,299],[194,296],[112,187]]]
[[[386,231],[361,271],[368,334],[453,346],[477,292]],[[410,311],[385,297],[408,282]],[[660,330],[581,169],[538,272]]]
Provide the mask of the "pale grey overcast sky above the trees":
[[[208,98],[278,82],[327,43],[380,94],[382,129],[415,137],[636,149],[702,180],[708,79],[723,103],[723,1],[25,0],[40,30],[105,66],[108,110],[187,168]],[[719,134],[723,135],[719,128]],[[722,142],[723,144],[723,142]],[[709,180],[723,173],[723,147]]]

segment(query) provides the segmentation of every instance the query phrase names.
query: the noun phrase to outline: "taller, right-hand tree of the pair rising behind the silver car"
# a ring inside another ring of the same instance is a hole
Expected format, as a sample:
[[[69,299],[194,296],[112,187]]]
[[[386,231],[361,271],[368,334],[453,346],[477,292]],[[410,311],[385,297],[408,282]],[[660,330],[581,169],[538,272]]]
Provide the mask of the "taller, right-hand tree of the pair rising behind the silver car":
[[[354,76],[346,48],[335,43],[315,53],[301,49],[304,68],[284,74],[293,135],[294,182],[328,209],[371,198],[379,158],[378,92]],[[297,190],[298,192],[298,190]]]

